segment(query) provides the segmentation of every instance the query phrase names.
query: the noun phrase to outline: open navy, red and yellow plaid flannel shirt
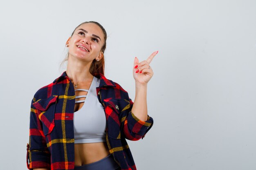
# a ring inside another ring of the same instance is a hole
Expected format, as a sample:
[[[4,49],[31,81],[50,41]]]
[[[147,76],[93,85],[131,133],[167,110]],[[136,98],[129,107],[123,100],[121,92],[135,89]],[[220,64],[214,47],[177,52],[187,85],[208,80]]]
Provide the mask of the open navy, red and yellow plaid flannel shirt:
[[[131,112],[132,100],[119,84],[102,74],[94,76],[100,78],[96,91],[106,114],[108,150],[122,170],[136,170],[126,139],[143,139],[153,119],[139,120]],[[74,106],[74,86],[65,71],[36,92],[30,110],[28,169],[74,170]]]

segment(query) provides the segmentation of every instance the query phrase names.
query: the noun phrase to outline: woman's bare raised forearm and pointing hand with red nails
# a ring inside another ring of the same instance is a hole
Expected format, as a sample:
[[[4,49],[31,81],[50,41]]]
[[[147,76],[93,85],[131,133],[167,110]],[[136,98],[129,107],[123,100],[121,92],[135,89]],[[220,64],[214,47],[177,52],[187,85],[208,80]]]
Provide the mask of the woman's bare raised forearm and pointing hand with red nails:
[[[133,77],[135,79],[135,99],[132,106],[132,113],[141,121],[148,119],[147,109],[147,84],[153,76],[149,64],[158,53],[155,51],[147,60],[139,62],[137,57],[134,60]]]

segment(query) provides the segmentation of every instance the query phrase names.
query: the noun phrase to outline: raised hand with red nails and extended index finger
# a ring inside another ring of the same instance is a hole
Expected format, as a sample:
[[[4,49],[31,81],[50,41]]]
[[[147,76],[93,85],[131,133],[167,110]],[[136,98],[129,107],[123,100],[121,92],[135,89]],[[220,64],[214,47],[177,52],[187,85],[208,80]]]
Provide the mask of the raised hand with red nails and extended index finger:
[[[155,51],[148,57],[147,60],[144,60],[142,62],[139,62],[138,58],[135,57],[133,66],[133,77],[136,83],[146,85],[149,82],[154,74],[149,64],[153,60],[155,55],[157,55],[157,53],[158,51]]]

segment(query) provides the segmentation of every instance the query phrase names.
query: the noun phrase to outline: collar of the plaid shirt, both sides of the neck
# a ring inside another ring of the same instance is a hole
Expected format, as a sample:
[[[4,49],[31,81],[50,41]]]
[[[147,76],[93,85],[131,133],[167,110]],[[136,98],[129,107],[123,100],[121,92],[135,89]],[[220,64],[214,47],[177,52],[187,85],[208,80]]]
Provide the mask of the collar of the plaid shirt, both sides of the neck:
[[[112,80],[107,79],[107,78],[106,78],[103,74],[101,74],[101,73],[95,73],[95,74],[93,74],[93,76],[100,79],[99,87],[103,87],[103,86],[116,87],[115,83],[112,82]],[[66,78],[66,79],[70,80],[69,77],[67,76],[66,71],[64,71],[64,72],[61,74],[60,77],[56,78],[56,79],[53,81],[53,83],[57,83],[57,82],[61,81],[63,78]]]

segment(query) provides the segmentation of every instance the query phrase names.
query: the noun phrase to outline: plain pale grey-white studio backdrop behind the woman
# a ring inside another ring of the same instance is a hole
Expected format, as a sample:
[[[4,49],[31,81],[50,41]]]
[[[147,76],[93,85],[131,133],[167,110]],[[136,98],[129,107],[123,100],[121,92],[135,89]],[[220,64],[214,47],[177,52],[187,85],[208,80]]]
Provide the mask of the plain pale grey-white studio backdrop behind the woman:
[[[256,169],[256,1],[1,1],[0,170],[26,170],[30,102],[65,71],[84,21],[107,33],[106,77],[135,97],[134,57],[150,66],[153,128],[128,141],[138,170]]]

